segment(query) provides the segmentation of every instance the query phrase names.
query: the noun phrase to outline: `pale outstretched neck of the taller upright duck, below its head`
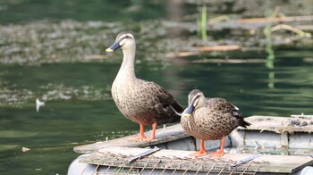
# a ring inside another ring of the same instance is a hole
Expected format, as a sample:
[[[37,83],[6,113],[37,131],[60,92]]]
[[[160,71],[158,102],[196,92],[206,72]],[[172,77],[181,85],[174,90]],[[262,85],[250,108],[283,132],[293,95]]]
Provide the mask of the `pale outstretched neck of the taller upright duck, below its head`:
[[[123,49],[123,63],[117,76],[123,76],[126,79],[136,79],[135,54],[136,46]]]

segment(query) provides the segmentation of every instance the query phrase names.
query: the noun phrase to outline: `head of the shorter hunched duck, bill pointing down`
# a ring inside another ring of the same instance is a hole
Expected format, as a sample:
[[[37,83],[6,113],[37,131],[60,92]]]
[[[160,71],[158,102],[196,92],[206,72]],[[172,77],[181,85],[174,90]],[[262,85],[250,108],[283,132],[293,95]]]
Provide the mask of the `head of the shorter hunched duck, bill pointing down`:
[[[199,107],[205,106],[206,97],[199,89],[193,89],[188,95],[188,107],[182,112],[183,117],[190,117],[192,112]]]

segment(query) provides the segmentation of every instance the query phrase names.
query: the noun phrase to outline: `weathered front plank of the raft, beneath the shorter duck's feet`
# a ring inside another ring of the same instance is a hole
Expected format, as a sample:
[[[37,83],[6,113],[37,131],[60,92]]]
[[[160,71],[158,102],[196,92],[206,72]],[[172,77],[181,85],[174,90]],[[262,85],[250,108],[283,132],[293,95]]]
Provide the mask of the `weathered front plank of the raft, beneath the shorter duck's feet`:
[[[253,154],[224,154],[223,157],[213,158],[209,156],[194,157],[189,154],[190,151],[179,150],[160,150],[155,154],[150,154],[139,161],[128,163],[127,158],[136,154],[148,151],[146,148],[134,147],[107,147],[98,150],[94,154],[80,157],[80,162],[72,163],[70,170],[73,170],[75,164],[83,165],[84,169],[80,174],[90,172],[118,172],[118,173],[140,173],[143,170],[157,173],[154,169],[165,170],[170,172],[187,171],[187,172],[261,172],[261,173],[295,173],[303,167],[313,163],[311,156],[300,155],[272,155],[263,154],[256,157],[251,162],[246,162],[233,167],[235,162],[240,162]],[[95,166],[93,166],[94,164]],[[101,168],[100,168],[101,167]],[[131,170],[132,169],[132,170]],[[81,170],[81,169],[80,169]]]

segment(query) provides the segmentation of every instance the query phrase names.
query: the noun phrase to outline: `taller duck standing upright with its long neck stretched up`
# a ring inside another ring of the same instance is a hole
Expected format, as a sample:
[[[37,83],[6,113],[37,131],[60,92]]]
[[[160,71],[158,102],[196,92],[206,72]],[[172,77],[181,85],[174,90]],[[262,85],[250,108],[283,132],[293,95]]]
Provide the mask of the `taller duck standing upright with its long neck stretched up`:
[[[123,62],[111,87],[114,103],[127,119],[140,124],[139,137],[129,140],[155,140],[157,125],[180,122],[181,115],[177,113],[182,113],[183,107],[157,83],[136,77],[136,41],[131,32],[119,33],[114,44],[106,48],[106,53],[119,48],[123,51]],[[150,137],[144,134],[145,126],[152,126]]]

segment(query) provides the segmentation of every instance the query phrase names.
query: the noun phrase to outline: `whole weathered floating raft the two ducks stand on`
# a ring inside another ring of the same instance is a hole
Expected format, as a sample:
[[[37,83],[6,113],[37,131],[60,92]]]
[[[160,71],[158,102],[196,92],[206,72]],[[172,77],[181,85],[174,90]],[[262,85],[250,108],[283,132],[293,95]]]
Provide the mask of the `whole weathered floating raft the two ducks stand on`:
[[[251,116],[248,129],[235,129],[226,137],[225,154],[192,157],[199,140],[180,124],[157,129],[151,142],[127,141],[121,137],[77,146],[83,154],[72,162],[68,174],[310,174],[313,173],[313,119],[307,117]],[[150,132],[145,133],[146,136]],[[134,137],[134,136],[129,136]],[[160,150],[139,156],[153,147]],[[206,141],[215,151],[219,141]],[[130,159],[132,161],[130,161]]]

